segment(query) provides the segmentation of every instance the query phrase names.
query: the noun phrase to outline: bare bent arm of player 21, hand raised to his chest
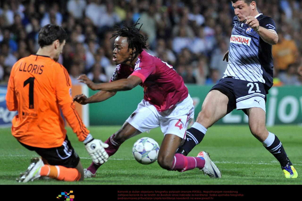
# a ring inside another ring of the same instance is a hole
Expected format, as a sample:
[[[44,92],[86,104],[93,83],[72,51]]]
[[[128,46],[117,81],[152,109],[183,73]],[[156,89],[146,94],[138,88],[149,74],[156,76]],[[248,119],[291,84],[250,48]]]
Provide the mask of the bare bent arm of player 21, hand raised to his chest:
[[[264,42],[275,45],[278,43],[279,37],[275,31],[270,31],[259,25],[259,21],[252,16],[246,17],[246,24],[248,24],[253,30],[259,34],[259,36],[264,40]]]

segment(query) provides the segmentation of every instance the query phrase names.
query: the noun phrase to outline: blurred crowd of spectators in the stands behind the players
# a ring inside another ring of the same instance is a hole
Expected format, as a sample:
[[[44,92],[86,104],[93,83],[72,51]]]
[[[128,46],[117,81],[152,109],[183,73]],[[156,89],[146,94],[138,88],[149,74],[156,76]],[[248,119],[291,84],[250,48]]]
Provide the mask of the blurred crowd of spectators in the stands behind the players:
[[[302,2],[256,1],[259,13],[274,19],[278,44],[273,46],[274,84],[302,85]],[[138,19],[148,37],[148,52],[173,65],[185,83],[214,85],[227,62],[234,9],[230,0],[1,0],[0,84],[7,84],[12,65],[35,54],[38,32],[46,24],[65,28],[69,38],[59,58],[72,84],[85,73],[108,82],[114,26]]]

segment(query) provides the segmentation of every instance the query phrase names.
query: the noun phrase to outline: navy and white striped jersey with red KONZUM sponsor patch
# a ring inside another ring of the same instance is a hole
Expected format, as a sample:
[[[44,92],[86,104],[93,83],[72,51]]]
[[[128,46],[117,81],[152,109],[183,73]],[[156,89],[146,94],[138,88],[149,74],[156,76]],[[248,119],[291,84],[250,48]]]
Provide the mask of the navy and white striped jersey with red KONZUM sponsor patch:
[[[272,18],[262,13],[255,18],[261,27],[275,32],[276,25]],[[271,45],[264,42],[249,25],[241,23],[237,16],[233,18],[229,62],[223,78],[225,77],[262,82],[265,84],[266,93],[273,85]]]

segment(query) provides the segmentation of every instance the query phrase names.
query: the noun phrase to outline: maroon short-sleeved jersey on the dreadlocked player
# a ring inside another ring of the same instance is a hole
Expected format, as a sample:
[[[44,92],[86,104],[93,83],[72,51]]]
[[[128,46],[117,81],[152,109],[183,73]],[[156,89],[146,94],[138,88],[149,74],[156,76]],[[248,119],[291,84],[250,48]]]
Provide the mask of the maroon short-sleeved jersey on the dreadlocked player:
[[[144,99],[153,104],[159,112],[172,108],[176,103],[188,97],[188,88],[173,67],[145,50],[135,63],[134,69],[129,65],[117,65],[111,81],[135,75],[142,80]]]

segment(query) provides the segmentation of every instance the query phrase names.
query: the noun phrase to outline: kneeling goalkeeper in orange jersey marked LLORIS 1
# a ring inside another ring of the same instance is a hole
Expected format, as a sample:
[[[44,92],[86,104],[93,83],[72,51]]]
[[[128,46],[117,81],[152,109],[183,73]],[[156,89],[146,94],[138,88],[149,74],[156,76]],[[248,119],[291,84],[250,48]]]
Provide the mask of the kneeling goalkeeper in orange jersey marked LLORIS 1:
[[[62,113],[96,163],[104,163],[107,144],[93,139],[71,97],[67,70],[57,62],[66,40],[65,30],[54,24],[44,26],[38,36],[37,54],[20,59],[11,69],[6,94],[7,108],[17,111],[11,133],[25,148],[42,158],[33,158],[17,180],[27,182],[40,176],[57,180],[83,180],[80,158],[64,129]]]

